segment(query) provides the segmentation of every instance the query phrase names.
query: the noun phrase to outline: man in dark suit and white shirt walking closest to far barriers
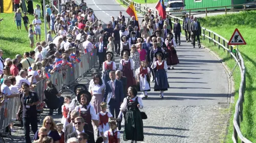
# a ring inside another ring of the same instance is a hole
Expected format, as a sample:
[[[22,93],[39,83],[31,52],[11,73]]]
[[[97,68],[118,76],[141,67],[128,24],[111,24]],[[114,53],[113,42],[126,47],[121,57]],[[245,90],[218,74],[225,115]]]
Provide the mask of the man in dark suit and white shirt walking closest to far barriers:
[[[105,53],[106,53],[106,44],[103,43],[103,37],[99,37],[99,42],[96,43],[97,55],[99,57],[99,69],[102,67],[102,64],[105,60]]]

